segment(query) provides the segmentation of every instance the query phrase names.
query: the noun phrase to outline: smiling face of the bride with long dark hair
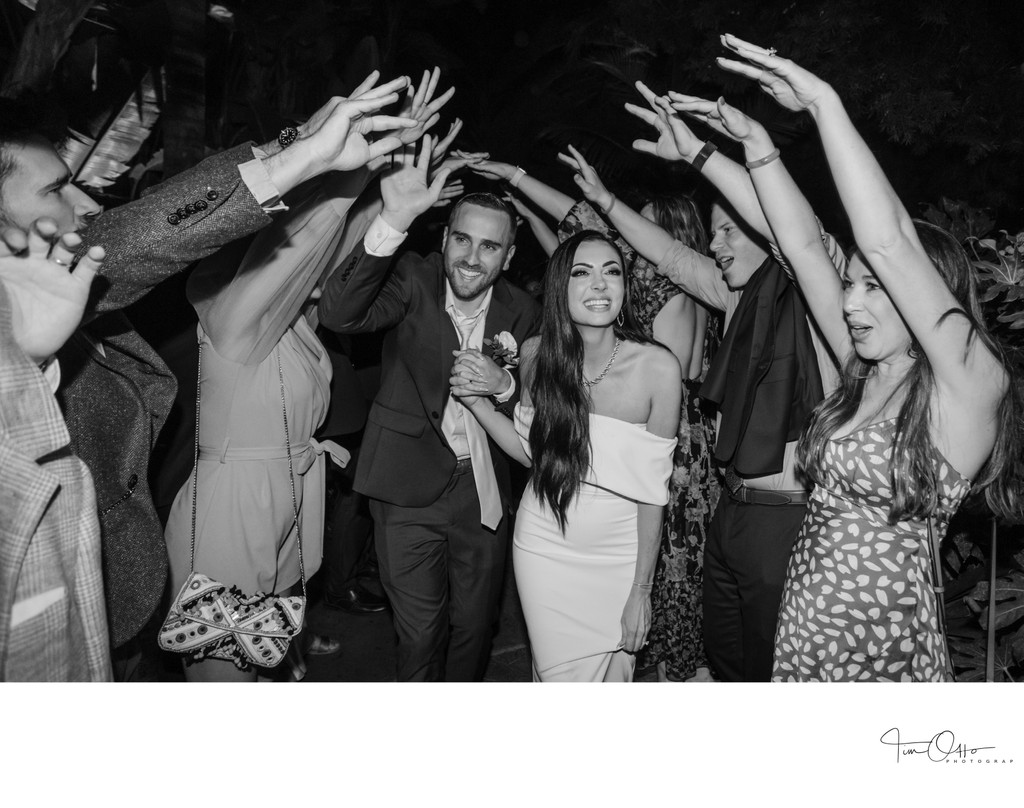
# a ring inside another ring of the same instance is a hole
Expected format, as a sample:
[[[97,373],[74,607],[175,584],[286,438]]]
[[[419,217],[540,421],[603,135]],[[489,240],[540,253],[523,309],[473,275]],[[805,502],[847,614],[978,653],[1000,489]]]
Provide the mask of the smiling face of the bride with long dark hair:
[[[569,269],[569,316],[578,326],[603,328],[615,322],[626,298],[623,261],[603,241],[584,242]]]

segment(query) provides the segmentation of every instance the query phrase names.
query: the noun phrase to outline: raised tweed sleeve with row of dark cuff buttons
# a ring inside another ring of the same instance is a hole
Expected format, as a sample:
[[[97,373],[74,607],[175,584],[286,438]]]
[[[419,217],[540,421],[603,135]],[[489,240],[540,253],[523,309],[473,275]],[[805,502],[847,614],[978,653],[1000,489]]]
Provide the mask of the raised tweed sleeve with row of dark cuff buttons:
[[[131,305],[190,263],[268,224],[239,173],[252,159],[249,144],[222,152],[101,214],[79,251],[92,245],[106,251],[86,317]]]

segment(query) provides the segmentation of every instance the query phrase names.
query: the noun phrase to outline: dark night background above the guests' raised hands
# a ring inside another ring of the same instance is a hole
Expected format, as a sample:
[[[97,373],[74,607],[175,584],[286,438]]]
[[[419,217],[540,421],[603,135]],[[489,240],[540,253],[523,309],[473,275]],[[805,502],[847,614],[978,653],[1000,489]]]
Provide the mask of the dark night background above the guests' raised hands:
[[[570,194],[569,171],[555,160],[569,142],[627,199],[702,192],[685,167],[632,150],[649,131],[623,103],[639,100],[633,82],[643,79],[658,92],[722,94],[766,123],[821,218],[844,235],[807,116],[714,67],[724,52],[717,36],[729,32],[829,81],[911,213],[945,197],[987,209],[996,226],[1024,224],[1024,3],[40,0],[37,13],[76,3],[88,7],[84,20],[32,88],[96,136],[140,77],[163,70],[161,119],[138,158],[163,147],[153,177],[212,150],[271,139],[373,68],[418,78],[437,65],[441,86],[457,92],[436,131],[461,117],[457,147],[521,164]],[[18,0],[0,8],[0,71],[11,94],[11,72],[32,57],[18,44],[33,12]],[[109,201],[138,188],[123,180]]]

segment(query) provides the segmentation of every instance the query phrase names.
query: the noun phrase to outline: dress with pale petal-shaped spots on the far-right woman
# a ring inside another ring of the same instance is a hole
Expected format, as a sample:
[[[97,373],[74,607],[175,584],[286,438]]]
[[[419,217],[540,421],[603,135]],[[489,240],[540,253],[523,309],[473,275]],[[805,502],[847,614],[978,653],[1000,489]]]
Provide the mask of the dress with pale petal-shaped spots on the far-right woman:
[[[926,523],[889,524],[896,421],[834,438],[811,494],[775,634],[774,681],[947,681]],[[936,452],[939,514],[971,487]]]

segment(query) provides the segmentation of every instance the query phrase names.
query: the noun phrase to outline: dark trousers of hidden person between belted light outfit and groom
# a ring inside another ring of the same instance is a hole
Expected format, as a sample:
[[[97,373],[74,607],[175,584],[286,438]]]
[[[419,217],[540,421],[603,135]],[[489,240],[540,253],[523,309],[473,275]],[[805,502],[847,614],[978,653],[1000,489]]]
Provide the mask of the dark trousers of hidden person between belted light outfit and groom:
[[[340,596],[356,583],[373,553],[371,537],[374,531],[367,498],[352,490],[355,464],[359,458],[359,440],[362,433],[342,435],[335,439],[349,452],[351,460],[345,468],[328,464],[328,496],[324,529],[324,564],[319,577],[324,592]]]

